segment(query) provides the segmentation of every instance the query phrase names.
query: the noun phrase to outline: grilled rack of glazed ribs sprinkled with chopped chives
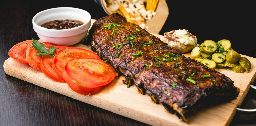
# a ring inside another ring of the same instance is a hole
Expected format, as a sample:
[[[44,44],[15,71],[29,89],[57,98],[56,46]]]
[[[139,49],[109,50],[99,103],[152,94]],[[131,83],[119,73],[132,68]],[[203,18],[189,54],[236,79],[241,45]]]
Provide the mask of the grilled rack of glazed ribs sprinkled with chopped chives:
[[[124,75],[123,83],[136,85],[141,94],[148,94],[187,123],[204,99],[239,94],[230,78],[186,58],[118,13],[93,23],[89,38],[91,50]]]

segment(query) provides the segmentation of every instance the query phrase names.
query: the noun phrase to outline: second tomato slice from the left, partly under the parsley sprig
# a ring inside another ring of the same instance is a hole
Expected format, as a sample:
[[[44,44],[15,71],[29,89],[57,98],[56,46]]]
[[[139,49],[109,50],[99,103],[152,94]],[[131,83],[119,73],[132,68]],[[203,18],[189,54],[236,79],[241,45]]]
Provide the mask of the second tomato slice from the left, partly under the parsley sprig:
[[[51,46],[57,46],[55,44],[52,44],[52,43],[48,43],[48,42],[41,42],[43,44],[45,44],[45,48],[46,49],[49,49]],[[26,59],[27,59],[27,62],[28,64],[35,68],[35,69],[41,69],[40,68],[40,64],[41,64],[41,59],[42,59],[42,55],[37,55],[35,56],[39,51],[36,50],[34,47],[29,47],[27,50],[26,50]]]

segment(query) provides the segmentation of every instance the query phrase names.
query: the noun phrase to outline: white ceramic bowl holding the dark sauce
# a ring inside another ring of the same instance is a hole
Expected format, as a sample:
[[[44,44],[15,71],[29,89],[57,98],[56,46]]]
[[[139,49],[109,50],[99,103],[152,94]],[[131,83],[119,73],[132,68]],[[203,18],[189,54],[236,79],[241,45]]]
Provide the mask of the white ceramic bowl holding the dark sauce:
[[[71,29],[47,29],[40,25],[53,21],[73,19],[82,21],[84,24]],[[33,29],[42,41],[57,45],[71,46],[83,40],[91,26],[91,15],[87,11],[73,7],[51,8],[37,13],[32,19]]]

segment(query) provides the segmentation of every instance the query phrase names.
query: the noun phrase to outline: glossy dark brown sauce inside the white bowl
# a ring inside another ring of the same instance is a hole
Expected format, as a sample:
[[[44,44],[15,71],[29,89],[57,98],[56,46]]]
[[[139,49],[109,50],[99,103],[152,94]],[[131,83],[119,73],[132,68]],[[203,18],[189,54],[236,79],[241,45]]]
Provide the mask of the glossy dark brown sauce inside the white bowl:
[[[64,19],[64,20],[54,20],[49,21],[41,25],[47,29],[71,29],[74,27],[81,26],[83,23],[78,20]]]

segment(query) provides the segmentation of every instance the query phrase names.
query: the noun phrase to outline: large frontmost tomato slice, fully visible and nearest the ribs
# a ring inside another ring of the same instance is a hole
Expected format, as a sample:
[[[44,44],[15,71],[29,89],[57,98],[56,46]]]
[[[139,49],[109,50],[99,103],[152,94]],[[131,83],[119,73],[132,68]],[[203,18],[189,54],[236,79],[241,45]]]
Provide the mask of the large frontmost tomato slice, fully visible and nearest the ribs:
[[[108,63],[94,58],[69,60],[65,65],[63,78],[75,92],[93,95],[108,85],[118,74]]]

